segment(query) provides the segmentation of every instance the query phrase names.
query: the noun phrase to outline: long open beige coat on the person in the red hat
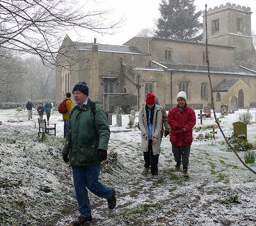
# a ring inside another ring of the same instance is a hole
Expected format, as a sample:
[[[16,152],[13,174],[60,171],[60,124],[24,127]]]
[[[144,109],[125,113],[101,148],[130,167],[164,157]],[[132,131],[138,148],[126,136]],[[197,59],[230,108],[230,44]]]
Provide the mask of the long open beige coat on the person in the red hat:
[[[143,104],[139,112],[139,124],[141,131],[141,151],[148,151],[148,140],[145,140],[144,135],[148,133],[148,123],[147,123],[147,114],[146,114],[146,105]],[[162,114],[161,108],[157,105],[154,110],[153,124],[152,124],[152,137],[157,138],[157,142],[152,144],[153,154],[159,154],[160,145],[161,145],[161,128],[162,128]]]

